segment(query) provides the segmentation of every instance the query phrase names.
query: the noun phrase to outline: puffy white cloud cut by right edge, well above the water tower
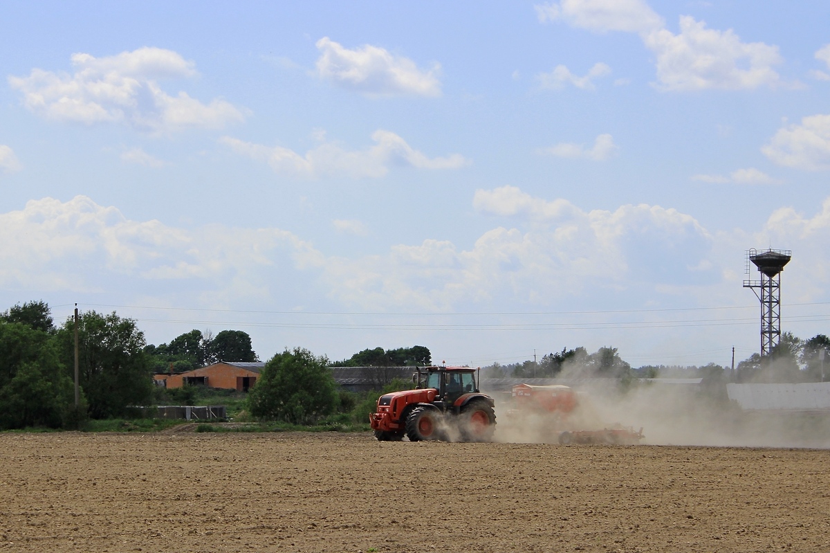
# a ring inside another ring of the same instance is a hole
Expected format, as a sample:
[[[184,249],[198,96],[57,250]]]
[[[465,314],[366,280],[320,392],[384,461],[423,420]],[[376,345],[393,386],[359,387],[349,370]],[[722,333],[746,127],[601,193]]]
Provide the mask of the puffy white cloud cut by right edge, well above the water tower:
[[[786,167],[830,169],[830,115],[810,115],[801,120],[801,125],[779,129],[761,151]]]

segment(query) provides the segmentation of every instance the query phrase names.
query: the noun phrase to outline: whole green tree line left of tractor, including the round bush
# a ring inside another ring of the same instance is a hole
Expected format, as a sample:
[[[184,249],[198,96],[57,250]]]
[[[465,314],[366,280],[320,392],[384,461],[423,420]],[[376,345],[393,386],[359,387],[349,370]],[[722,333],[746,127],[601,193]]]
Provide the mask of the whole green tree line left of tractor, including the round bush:
[[[84,311],[78,321],[80,401],[75,404],[75,321],[61,325],[44,301],[0,313],[0,429],[80,428],[87,418],[120,418],[130,405],[154,404],[155,373],[183,372],[224,361],[256,361],[251,337],[241,330],[217,335],[191,330],[169,343],[147,344],[135,321],[115,312]],[[340,366],[428,365],[423,346],[363,350]],[[255,418],[315,422],[334,411],[357,409],[366,398],[339,391],[325,356],[296,348],[274,355],[247,398]],[[337,365],[337,364],[335,364]],[[372,399],[374,401],[374,399]],[[369,409],[371,410],[371,409]],[[367,413],[369,411],[366,411]]]

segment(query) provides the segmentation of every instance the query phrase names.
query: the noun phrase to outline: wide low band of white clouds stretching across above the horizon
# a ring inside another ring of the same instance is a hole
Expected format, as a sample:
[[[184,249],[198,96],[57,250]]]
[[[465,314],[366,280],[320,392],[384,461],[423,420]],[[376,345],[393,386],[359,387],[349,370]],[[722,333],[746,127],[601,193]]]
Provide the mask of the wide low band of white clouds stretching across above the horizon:
[[[53,296],[129,290],[149,298],[138,305],[164,304],[159,298],[214,307],[245,300],[264,309],[298,305],[302,294],[392,312],[453,312],[485,302],[488,309],[521,311],[574,298],[598,309],[603,298],[620,294],[630,305],[671,295],[682,295],[683,306],[696,298],[711,306],[713,296],[715,305],[734,305],[740,272],[730,267],[740,266],[747,245],[768,243],[817,252],[809,264],[798,258],[802,265],[788,277],[791,301],[823,297],[830,275],[818,255],[830,251],[830,198],[815,214],[782,208],[757,232],[716,234],[676,209],[583,210],[510,186],[476,191],[473,207],[506,219],[505,226],[467,245],[439,237],[343,257],[279,228],[175,228],[130,220],[90,198],[44,198],[0,213],[7,237],[0,242],[0,286]]]

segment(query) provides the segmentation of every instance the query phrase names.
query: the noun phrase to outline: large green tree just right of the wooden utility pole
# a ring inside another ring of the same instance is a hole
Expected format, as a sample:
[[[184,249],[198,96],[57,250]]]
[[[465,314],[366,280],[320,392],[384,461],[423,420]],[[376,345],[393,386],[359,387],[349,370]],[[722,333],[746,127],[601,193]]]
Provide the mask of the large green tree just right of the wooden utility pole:
[[[58,330],[61,360],[74,365],[73,321]],[[153,393],[151,366],[144,353],[144,333],[135,321],[115,312],[101,315],[81,313],[78,321],[79,372],[81,388],[92,418],[125,414],[127,405],[149,403]]]

